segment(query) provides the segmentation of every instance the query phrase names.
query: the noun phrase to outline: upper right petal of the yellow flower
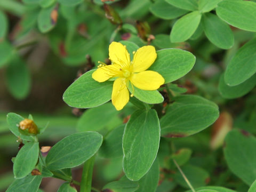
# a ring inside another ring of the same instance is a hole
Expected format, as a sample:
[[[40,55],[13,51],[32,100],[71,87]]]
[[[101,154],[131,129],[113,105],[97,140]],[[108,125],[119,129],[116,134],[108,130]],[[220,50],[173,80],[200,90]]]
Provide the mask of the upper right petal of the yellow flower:
[[[133,56],[133,72],[138,73],[148,69],[156,60],[156,50],[154,46],[148,45],[140,47]]]

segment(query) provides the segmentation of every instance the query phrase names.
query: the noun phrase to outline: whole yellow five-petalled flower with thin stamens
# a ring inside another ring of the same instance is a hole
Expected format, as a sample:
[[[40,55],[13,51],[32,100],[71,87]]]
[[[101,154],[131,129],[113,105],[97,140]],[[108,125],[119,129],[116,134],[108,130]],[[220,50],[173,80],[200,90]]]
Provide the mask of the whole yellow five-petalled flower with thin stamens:
[[[111,95],[112,103],[116,110],[121,110],[129,101],[127,85],[138,87],[141,90],[157,90],[164,84],[164,78],[155,71],[146,70],[156,60],[154,46],[143,46],[133,53],[133,60],[130,61],[130,54],[121,43],[112,42],[109,45],[109,59],[111,65],[102,63],[94,71],[92,78],[98,82],[105,82],[109,78],[118,77],[113,84]],[[132,97],[132,95],[131,95]]]

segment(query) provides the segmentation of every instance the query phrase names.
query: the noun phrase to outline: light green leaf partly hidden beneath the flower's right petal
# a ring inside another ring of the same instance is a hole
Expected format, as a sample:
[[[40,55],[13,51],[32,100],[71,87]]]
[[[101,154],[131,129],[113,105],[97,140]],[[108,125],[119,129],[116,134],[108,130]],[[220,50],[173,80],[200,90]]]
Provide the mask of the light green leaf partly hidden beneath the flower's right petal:
[[[131,83],[128,84],[128,89],[134,95],[135,98],[137,98],[142,102],[155,104],[155,103],[162,103],[164,101],[162,94],[159,93],[157,90],[155,91],[141,90],[135,86],[132,86]]]

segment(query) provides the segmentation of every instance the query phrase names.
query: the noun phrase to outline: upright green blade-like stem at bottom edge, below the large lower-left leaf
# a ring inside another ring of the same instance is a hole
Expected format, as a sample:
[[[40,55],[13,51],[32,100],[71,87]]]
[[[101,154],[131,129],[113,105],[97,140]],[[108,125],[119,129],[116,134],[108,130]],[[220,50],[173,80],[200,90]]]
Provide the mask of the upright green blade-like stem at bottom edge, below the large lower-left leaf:
[[[95,156],[92,156],[84,163],[80,192],[91,192],[94,159]]]

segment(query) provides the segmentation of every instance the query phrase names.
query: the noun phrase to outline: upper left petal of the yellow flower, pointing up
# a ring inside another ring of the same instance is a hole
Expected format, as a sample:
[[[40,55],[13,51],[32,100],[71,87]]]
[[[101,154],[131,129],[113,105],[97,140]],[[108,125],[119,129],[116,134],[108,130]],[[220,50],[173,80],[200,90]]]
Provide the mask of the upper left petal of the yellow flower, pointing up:
[[[118,42],[112,42],[109,45],[109,59],[120,65],[122,68],[127,68],[130,65],[130,54],[126,47]]]

